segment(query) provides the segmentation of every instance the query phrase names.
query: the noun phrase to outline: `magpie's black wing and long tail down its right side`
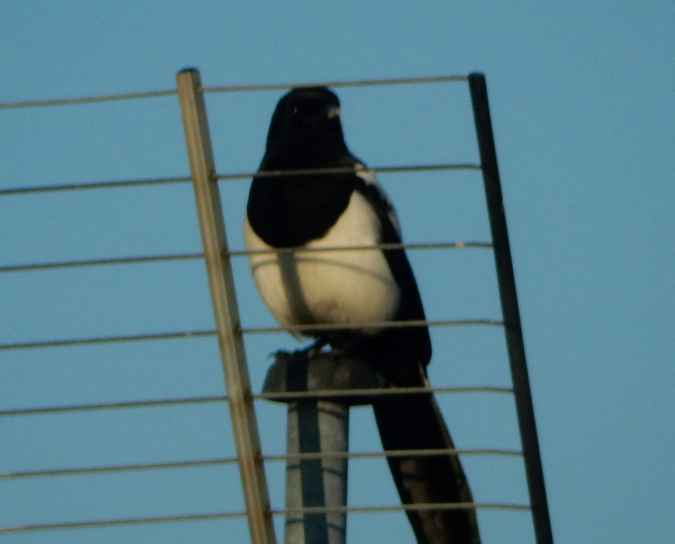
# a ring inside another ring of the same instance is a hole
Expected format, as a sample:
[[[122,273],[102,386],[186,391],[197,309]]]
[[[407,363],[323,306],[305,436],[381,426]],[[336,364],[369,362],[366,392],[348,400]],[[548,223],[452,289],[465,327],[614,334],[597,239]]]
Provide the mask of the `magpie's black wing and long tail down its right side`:
[[[359,173],[356,190],[364,194],[382,224],[382,242],[400,243],[394,207],[369,173]],[[401,289],[395,320],[425,320],[421,297],[403,249],[385,251]],[[428,385],[425,367],[431,359],[427,326],[389,328],[363,338],[360,353],[391,386]],[[373,411],[385,450],[454,449],[448,427],[431,393],[387,395],[373,399]],[[388,457],[389,470],[403,504],[472,503],[466,475],[457,455]],[[475,510],[408,510],[418,544],[480,544]]]

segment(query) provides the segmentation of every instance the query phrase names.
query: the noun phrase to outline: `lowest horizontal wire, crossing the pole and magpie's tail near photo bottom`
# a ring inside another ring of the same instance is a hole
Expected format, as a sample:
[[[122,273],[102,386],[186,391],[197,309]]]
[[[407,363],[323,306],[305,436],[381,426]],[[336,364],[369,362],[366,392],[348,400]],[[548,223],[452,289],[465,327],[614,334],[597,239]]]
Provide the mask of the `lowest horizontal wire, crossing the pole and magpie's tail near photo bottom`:
[[[271,514],[321,514],[331,512],[396,512],[399,510],[531,510],[527,504],[512,504],[500,502],[451,502],[433,504],[400,504],[384,506],[304,506],[302,508],[273,508]],[[93,520],[64,523],[39,523],[0,527],[0,533],[20,533],[22,531],[41,531],[45,529],[64,529],[78,527],[96,527],[111,525],[130,525],[141,523],[157,523],[169,521],[208,520],[218,518],[237,518],[246,516],[244,510],[238,512],[213,512],[211,514],[183,514],[178,516],[152,516],[146,518],[124,518],[115,520]]]

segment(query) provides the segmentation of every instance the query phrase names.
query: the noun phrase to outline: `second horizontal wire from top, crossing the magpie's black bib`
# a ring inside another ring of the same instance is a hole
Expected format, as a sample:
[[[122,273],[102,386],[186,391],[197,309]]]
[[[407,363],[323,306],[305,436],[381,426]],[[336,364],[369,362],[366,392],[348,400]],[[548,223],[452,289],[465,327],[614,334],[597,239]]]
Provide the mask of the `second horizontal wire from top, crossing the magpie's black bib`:
[[[395,172],[425,172],[442,170],[480,170],[480,164],[418,164],[414,166],[395,166],[395,167],[373,167],[369,169],[356,169],[354,167],[331,167],[316,169],[298,169],[298,170],[268,170],[254,172],[238,172],[231,174],[218,174],[217,179],[250,179],[258,177],[282,177],[288,175],[325,175],[325,174],[344,174],[352,172],[361,173],[395,173]],[[167,183],[184,183],[192,181],[190,176],[182,177],[158,177],[148,179],[123,179],[121,181],[93,181],[87,183],[69,183],[67,185],[36,185],[33,187],[9,187],[0,189],[0,196],[16,195],[22,193],[45,193],[49,191],[72,191],[76,189],[110,189],[112,187],[132,187],[135,185],[162,185]]]

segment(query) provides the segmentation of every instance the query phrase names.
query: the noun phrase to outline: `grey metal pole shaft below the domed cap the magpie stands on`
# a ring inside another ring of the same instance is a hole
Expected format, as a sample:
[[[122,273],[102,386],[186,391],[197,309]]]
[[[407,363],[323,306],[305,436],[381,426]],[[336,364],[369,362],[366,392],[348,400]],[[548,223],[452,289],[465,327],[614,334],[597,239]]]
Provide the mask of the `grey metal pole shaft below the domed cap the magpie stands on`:
[[[302,506],[346,506],[347,458],[293,458],[294,453],[346,452],[349,406],[328,400],[288,404],[289,458],[286,510]],[[286,514],[286,544],[345,544],[346,512]]]

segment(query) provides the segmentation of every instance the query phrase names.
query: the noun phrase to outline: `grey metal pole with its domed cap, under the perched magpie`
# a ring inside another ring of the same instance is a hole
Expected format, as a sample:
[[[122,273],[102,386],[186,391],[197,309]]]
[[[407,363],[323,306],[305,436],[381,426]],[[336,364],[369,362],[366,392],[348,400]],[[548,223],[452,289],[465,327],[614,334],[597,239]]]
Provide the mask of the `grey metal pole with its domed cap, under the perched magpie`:
[[[263,393],[313,392],[377,387],[373,369],[332,352],[277,352]],[[277,401],[278,402],[278,401]],[[286,544],[345,544],[347,512],[299,512],[305,506],[347,505],[347,456],[300,459],[298,453],[348,451],[349,406],[355,397],[288,402],[286,451]]]

